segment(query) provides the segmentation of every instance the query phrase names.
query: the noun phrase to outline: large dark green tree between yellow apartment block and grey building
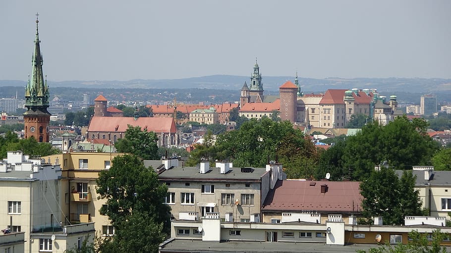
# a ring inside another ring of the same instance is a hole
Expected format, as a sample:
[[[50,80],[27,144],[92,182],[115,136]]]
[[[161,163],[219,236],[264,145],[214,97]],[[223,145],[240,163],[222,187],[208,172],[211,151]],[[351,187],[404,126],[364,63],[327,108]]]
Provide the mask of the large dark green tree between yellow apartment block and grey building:
[[[112,167],[99,173],[97,193],[106,204],[115,235],[101,241],[100,252],[158,252],[170,230],[170,208],[164,204],[168,187],[134,155],[116,156]]]

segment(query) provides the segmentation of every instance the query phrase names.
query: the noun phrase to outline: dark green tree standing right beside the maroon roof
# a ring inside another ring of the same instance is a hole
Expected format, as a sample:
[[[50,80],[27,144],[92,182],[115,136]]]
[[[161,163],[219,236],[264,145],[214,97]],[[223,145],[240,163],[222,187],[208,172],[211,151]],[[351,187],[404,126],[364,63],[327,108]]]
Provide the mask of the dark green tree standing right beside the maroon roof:
[[[382,216],[384,223],[400,225],[404,216],[421,215],[421,201],[414,189],[412,171],[404,170],[399,178],[394,169],[382,166],[360,183],[362,214],[366,218]]]

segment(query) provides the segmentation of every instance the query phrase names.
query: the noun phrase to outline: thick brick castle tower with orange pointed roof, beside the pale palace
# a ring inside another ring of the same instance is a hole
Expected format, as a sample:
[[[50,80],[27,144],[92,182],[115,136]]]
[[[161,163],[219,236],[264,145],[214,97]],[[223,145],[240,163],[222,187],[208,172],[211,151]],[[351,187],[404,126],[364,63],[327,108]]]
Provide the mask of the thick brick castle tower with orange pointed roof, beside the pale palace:
[[[297,90],[298,87],[290,81],[287,81],[279,87],[282,121],[289,120],[291,123],[296,122]]]

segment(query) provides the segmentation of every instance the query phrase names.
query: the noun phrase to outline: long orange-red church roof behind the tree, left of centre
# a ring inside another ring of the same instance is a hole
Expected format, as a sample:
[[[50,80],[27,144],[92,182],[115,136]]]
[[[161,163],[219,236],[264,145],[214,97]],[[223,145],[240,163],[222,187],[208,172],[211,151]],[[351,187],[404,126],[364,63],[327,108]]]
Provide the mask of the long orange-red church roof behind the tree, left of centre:
[[[88,132],[125,132],[128,125],[147,127],[148,131],[155,133],[171,132],[175,133],[175,123],[172,118],[142,117],[136,121],[133,117],[92,117],[89,123]],[[116,129],[117,128],[117,129]]]

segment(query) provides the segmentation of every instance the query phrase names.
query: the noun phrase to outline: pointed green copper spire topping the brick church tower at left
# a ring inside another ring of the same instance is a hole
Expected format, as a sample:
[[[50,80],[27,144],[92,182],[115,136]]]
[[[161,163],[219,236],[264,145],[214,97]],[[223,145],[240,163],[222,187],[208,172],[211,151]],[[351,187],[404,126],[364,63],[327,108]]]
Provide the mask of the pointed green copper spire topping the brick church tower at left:
[[[47,86],[47,77],[44,81],[44,75],[42,72],[42,54],[39,40],[39,29],[38,29],[38,16],[36,13],[36,39],[35,47],[32,59],[32,70],[31,79],[28,79],[27,87],[25,88],[25,107],[28,110],[32,108],[39,108],[43,112],[47,112],[49,107],[49,87]]]

